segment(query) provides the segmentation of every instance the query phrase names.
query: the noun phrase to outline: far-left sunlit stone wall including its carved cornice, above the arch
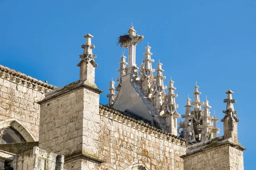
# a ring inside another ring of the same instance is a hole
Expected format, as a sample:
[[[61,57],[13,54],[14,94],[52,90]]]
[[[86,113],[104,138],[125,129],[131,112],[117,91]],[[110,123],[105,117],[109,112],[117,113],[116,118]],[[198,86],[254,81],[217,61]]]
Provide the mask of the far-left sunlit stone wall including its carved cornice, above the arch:
[[[26,139],[25,134],[16,129],[26,141],[38,141],[40,106],[37,102],[54,88],[0,65],[0,128],[5,122],[10,121],[8,125],[12,126],[11,123],[17,121],[32,136]]]

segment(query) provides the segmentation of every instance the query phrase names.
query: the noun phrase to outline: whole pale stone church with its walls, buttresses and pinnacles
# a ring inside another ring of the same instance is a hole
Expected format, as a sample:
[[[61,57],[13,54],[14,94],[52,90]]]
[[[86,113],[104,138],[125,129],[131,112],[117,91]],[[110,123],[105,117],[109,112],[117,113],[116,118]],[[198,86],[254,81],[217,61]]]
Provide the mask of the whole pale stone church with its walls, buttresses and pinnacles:
[[[231,90],[224,99],[223,136],[217,137],[218,119],[210,115],[209,101],[200,101],[197,85],[177,123],[174,81],[163,84],[162,63],[153,69],[150,46],[137,67],[143,35],[131,26],[120,36],[128,63],[121,56],[118,84],[110,82],[108,104],[100,104],[93,36],[84,37],[80,79],[66,86],[0,65],[0,170],[244,169]]]

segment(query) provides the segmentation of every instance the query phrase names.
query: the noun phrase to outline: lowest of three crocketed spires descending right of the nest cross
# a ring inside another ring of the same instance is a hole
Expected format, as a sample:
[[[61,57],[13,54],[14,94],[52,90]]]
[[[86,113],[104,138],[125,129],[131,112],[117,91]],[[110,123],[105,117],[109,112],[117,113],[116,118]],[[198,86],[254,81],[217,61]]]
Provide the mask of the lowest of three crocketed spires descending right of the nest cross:
[[[162,115],[166,118],[166,127],[174,135],[177,135],[177,118],[180,115],[177,112],[178,104],[175,103],[175,98],[178,96],[175,94],[174,81],[169,81],[168,95],[166,95],[166,100],[163,104],[164,114]]]

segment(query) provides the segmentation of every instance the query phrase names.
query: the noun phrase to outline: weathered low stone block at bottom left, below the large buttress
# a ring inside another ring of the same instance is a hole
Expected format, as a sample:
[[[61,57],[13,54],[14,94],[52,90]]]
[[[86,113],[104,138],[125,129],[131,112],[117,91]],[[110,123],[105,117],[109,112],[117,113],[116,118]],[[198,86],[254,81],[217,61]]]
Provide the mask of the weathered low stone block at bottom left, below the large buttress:
[[[38,147],[20,153],[17,158],[17,170],[64,170],[64,156],[47,153]]]

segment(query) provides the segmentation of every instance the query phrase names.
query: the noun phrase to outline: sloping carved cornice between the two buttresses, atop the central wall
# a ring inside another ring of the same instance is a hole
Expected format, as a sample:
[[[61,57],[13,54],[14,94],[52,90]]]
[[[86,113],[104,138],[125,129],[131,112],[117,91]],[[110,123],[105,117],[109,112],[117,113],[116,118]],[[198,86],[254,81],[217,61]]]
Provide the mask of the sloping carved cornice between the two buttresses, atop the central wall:
[[[140,121],[137,121],[136,119],[131,118],[118,110],[115,110],[113,108],[107,107],[102,104],[99,105],[99,114],[102,116],[105,116],[107,118],[110,118],[114,121],[118,121],[122,124],[126,124],[127,126],[131,126],[132,128],[140,130],[143,133],[148,133],[148,134],[154,135],[158,138],[165,139],[167,141],[171,141],[180,146],[186,147],[188,144],[192,144],[183,138],[180,138],[180,137],[173,135],[171,133],[168,133],[166,131],[157,129],[155,127],[152,127],[152,126],[142,123]]]

